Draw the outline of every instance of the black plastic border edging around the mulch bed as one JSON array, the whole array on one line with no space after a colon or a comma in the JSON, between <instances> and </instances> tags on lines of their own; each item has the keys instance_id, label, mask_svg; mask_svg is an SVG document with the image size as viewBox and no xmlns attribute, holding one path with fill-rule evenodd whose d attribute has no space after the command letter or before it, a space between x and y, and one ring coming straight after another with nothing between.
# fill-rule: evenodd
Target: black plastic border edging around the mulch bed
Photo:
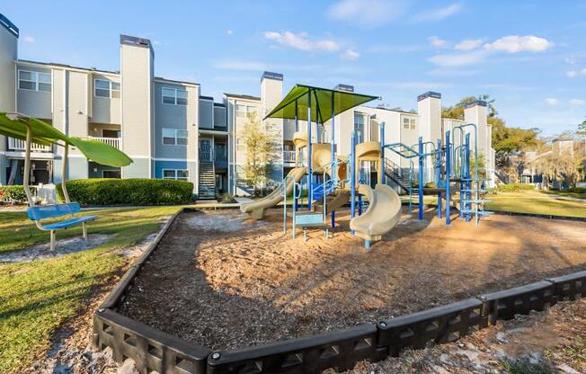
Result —
<instances>
[{"instance_id":1,"label":"black plastic border edging around the mulch bed","mask_svg":"<svg viewBox=\"0 0 586 374\"><path fill-rule=\"evenodd\" d=\"M423 310L376 324L267 343L234 351L213 352L142 324L117 310L125 301L143 264L169 232L183 208L170 218L145 254L122 277L95 312L93 344L111 347L117 362L136 362L140 373L318 373L325 369L350 370L358 361L381 361L407 348L454 342L499 319L544 310L562 300L586 297L586 270L504 289Z\"/></svg>"}]
</instances>

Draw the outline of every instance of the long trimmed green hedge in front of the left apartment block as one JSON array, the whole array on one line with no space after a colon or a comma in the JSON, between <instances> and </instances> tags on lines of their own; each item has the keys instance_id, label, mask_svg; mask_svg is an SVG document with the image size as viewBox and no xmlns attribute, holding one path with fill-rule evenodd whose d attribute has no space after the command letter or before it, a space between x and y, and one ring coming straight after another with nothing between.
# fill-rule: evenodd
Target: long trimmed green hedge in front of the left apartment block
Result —
<instances>
[{"instance_id":1,"label":"long trimmed green hedge in front of the left apartment block","mask_svg":"<svg viewBox=\"0 0 586 374\"><path fill-rule=\"evenodd\" d=\"M69 199L82 205L173 205L191 202L193 183L166 179L79 179L67 181ZM65 200L61 184L58 200Z\"/></svg>"}]
</instances>

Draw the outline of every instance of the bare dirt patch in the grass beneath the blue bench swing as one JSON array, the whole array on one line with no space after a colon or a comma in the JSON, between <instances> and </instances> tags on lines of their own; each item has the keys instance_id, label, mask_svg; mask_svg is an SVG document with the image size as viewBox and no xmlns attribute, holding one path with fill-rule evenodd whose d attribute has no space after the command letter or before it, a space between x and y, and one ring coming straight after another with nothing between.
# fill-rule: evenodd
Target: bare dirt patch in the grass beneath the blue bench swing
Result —
<instances>
[{"instance_id":1,"label":"bare dirt patch in the grass beneath the blue bench swing","mask_svg":"<svg viewBox=\"0 0 586 374\"><path fill-rule=\"evenodd\" d=\"M47 243L31 245L22 250L0 254L0 263L29 263L33 260L46 260L66 254L74 254L75 252L86 251L103 245L112 237L114 236L105 234L91 234L87 236L87 240L84 240L83 236L68 237L67 239L58 240L55 251L51 251L48 234Z\"/></svg>"}]
</instances>

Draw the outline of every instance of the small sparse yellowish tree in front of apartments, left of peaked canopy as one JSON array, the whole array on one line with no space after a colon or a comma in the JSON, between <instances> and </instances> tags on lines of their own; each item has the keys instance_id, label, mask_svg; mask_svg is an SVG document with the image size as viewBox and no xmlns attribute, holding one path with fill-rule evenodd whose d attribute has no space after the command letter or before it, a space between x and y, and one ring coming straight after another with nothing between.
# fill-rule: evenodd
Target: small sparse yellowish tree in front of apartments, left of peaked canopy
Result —
<instances>
[{"instance_id":1,"label":"small sparse yellowish tree in front of apartments, left of peaked canopy","mask_svg":"<svg viewBox=\"0 0 586 374\"><path fill-rule=\"evenodd\" d=\"M239 137L244 139L246 149L244 179L256 191L269 182L273 160L279 152L275 147L276 139L263 128L256 113L248 113Z\"/></svg>"}]
</instances>

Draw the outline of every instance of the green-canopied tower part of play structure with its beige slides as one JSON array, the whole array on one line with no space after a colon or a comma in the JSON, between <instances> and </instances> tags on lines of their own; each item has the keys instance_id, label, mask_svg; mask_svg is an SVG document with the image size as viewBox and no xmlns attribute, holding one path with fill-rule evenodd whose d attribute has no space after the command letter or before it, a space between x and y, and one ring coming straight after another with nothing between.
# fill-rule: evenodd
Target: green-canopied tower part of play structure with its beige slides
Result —
<instances>
[{"instance_id":1,"label":"green-canopied tower part of play structure with its beige slides","mask_svg":"<svg viewBox=\"0 0 586 374\"><path fill-rule=\"evenodd\" d=\"M246 203L241 211L253 218L264 217L265 209L274 207L284 201L283 226L287 228L287 198L293 201L292 220L295 237L296 228L303 229L306 238L307 228L322 228L324 236L328 236L329 227L335 227L335 210L347 202L351 202L351 218L362 213L360 191L368 195L368 210L354 223L352 232L364 238L367 248L373 240L393 228L400 215L401 202L395 191L380 187L370 189L360 181L360 162L375 161L379 175L382 174L380 162L381 147L378 142L356 144L356 134L352 134L350 156L338 155L335 148L335 116L364 102L376 99L375 96L354 94L338 90L330 90L307 85L296 85L289 94L265 117L295 120L293 142L296 147L296 167L283 179L275 191L267 197ZM299 120L306 121L306 132L300 131ZM331 120L330 143L314 142L312 121L316 129ZM301 165L306 160L306 165ZM305 177L305 183L304 181ZM380 179L380 178L379 178ZM307 203L305 211L297 211L301 206L298 200L306 191ZM357 193L358 192L358 193ZM391 218L388 209L393 209ZM331 222L327 223L327 216Z\"/></svg>"}]
</instances>

